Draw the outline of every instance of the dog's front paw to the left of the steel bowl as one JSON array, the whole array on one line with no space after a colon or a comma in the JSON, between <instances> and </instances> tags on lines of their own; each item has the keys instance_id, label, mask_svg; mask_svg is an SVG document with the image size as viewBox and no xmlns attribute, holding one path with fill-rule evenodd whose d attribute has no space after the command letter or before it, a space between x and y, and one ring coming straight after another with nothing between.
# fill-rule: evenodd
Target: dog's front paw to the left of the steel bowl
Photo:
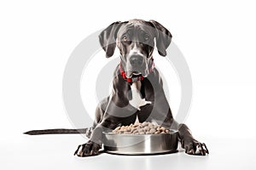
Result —
<instances>
[{"instance_id":1,"label":"dog's front paw to the left of the steel bowl","mask_svg":"<svg viewBox=\"0 0 256 170\"><path fill-rule=\"evenodd\" d=\"M96 144L95 142L88 141L86 144L80 144L78 149L75 151L75 156L96 156L99 154L101 149L101 144Z\"/></svg>"}]
</instances>

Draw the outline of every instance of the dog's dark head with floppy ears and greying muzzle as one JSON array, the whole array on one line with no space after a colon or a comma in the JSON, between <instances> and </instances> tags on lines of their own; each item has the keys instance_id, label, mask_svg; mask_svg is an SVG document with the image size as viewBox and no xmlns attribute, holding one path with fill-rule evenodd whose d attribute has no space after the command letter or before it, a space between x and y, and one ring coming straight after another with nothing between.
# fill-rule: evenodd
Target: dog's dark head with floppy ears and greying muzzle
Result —
<instances>
[{"instance_id":1,"label":"dog's dark head with floppy ears and greying muzzle","mask_svg":"<svg viewBox=\"0 0 256 170\"><path fill-rule=\"evenodd\" d=\"M158 53L166 56L166 48L172 40L172 34L154 20L129 20L114 22L99 35L106 56L111 57L117 46L120 52L121 66L128 78L148 76L148 65L152 62L154 38Z\"/></svg>"}]
</instances>

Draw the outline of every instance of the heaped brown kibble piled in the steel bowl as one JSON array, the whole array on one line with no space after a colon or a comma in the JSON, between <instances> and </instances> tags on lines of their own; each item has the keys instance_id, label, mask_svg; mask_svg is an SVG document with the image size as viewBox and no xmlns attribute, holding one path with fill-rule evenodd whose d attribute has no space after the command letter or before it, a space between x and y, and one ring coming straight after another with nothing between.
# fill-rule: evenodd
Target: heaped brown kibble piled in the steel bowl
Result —
<instances>
[{"instance_id":1,"label":"heaped brown kibble piled in the steel bowl","mask_svg":"<svg viewBox=\"0 0 256 170\"><path fill-rule=\"evenodd\" d=\"M161 127L160 125L155 125L151 122L137 122L130 126L116 127L112 131L114 134L160 134L169 132L169 129Z\"/></svg>"}]
</instances>

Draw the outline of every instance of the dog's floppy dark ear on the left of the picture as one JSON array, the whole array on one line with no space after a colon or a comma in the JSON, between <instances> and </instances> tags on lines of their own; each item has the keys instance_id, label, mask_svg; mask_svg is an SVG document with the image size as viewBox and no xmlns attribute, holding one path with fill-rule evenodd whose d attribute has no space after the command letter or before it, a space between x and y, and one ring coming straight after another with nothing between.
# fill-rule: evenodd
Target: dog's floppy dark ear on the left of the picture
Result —
<instances>
[{"instance_id":1,"label":"dog's floppy dark ear on the left of the picture","mask_svg":"<svg viewBox=\"0 0 256 170\"><path fill-rule=\"evenodd\" d=\"M120 27L120 21L113 22L108 28L103 30L99 35L102 48L106 52L106 57L111 57L116 47L116 34Z\"/></svg>"}]
</instances>

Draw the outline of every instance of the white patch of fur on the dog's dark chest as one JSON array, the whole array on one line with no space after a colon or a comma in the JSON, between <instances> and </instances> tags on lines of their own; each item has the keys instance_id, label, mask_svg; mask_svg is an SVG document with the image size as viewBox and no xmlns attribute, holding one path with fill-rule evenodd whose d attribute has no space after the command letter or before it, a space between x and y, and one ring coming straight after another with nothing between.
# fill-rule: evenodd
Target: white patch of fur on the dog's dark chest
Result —
<instances>
[{"instance_id":1,"label":"white patch of fur on the dog's dark chest","mask_svg":"<svg viewBox=\"0 0 256 170\"><path fill-rule=\"evenodd\" d=\"M142 99L142 95L140 93L142 87L142 82L137 81L133 82L131 84L131 94L132 99L129 101L129 103L137 108L138 111L141 111L140 107L143 105L151 104L151 101L146 101L145 99Z\"/></svg>"}]
</instances>

